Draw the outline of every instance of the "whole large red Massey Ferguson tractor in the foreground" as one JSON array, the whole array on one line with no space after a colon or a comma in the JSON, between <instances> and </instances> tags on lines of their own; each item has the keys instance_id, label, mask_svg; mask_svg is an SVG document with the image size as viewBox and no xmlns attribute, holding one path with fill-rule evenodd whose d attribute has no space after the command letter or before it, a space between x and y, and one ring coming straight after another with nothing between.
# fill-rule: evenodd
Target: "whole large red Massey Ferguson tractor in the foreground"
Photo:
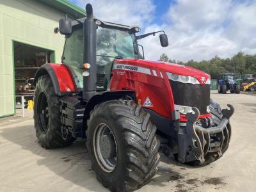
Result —
<instances>
[{"instance_id":1,"label":"whole large red Massey Ferguson tractor in the foreground","mask_svg":"<svg viewBox=\"0 0 256 192\"><path fill-rule=\"evenodd\" d=\"M61 64L35 76L36 137L44 148L86 138L92 169L111 191L132 191L157 172L159 152L204 165L228 148L228 109L210 99L210 76L195 68L144 60L140 28L104 22L86 5L83 19L60 19ZM141 49L143 50L143 49ZM85 143L84 143L85 144Z\"/></svg>"}]
</instances>

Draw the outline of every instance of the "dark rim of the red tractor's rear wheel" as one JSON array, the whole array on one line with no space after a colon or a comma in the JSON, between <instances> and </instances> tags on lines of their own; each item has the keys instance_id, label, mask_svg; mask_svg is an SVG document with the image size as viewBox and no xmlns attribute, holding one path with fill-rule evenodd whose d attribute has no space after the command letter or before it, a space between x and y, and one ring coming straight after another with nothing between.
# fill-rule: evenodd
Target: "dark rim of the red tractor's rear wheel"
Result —
<instances>
[{"instance_id":1,"label":"dark rim of the red tractor's rear wheel","mask_svg":"<svg viewBox=\"0 0 256 192\"><path fill-rule=\"evenodd\" d=\"M49 125L49 107L47 97L44 92L41 92L38 97L38 122L42 132L47 132Z\"/></svg>"}]
</instances>

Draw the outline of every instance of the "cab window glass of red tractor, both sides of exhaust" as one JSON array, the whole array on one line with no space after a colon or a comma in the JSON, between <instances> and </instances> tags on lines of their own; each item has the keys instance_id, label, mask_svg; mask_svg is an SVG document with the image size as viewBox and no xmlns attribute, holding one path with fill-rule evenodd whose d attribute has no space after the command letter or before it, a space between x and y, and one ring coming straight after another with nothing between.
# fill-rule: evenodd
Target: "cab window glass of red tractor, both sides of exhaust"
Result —
<instances>
[{"instance_id":1,"label":"cab window glass of red tractor, both sides of exhaust","mask_svg":"<svg viewBox=\"0 0 256 192\"><path fill-rule=\"evenodd\" d=\"M106 90L113 60L138 58L134 33L113 28L97 29L97 88ZM77 88L83 88L83 29L74 29L66 38L63 63L70 67Z\"/></svg>"}]
</instances>

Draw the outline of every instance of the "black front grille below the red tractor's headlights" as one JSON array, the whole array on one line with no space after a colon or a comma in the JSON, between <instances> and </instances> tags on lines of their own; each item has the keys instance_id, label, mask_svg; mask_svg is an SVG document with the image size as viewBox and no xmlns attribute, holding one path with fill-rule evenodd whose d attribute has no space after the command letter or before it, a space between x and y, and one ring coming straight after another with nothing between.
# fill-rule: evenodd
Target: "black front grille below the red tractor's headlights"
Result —
<instances>
[{"instance_id":1,"label":"black front grille below the red tractor's headlights","mask_svg":"<svg viewBox=\"0 0 256 192\"><path fill-rule=\"evenodd\" d=\"M210 85L191 84L171 81L174 104L180 106L196 107L200 115L207 114L210 105Z\"/></svg>"}]
</instances>

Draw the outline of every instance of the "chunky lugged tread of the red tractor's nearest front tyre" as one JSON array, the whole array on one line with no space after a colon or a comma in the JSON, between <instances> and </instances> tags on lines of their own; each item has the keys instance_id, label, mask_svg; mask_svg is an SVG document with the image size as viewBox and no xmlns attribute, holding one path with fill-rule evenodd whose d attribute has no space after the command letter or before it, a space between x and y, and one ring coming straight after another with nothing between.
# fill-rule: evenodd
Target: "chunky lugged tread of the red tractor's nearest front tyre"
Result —
<instances>
[{"instance_id":1,"label":"chunky lugged tread of the red tractor's nearest front tyre","mask_svg":"<svg viewBox=\"0 0 256 192\"><path fill-rule=\"evenodd\" d=\"M111 191L133 191L147 184L157 172L159 163L159 142L155 136L156 126L150 122L150 115L133 100L109 100L93 109L88 125L93 118L102 113L100 111L109 111L109 116L119 125L118 128L122 129L125 159L127 159L126 172L123 173L124 180L109 182L108 179L101 177L102 174L96 173L100 181ZM88 132L90 132L90 127L88 127ZM88 149L90 158L93 159L92 149ZM92 161L92 164L96 166L97 161ZM116 182L121 184L116 185Z\"/></svg>"}]
</instances>

